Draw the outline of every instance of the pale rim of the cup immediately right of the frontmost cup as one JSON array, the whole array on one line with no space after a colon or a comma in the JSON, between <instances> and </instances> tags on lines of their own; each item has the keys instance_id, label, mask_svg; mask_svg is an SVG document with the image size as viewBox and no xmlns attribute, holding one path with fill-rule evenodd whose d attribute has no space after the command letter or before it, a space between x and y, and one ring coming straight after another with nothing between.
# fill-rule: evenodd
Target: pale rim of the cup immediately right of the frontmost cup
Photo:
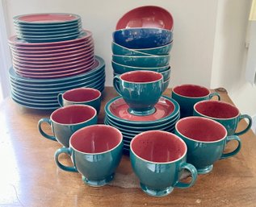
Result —
<instances>
[{"instance_id":1,"label":"pale rim of the cup immediately right of the frontmost cup","mask_svg":"<svg viewBox=\"0 0 256 207\"><path fill-rule=\"evenodd\" d=\"M225 136L221 139L218 139L216 141L199 141L199 140L196 140L196 139L191 139L185 135L183 135L178 129L177 129L177 126L178 126L178 123L179 122L183 122L183 120L185 119L191 119L191 118L196 118L196 119L204 119L204 120L208 120L210 122L215 122L217 125L219 125L221 128L223 128L225 130ZM195 143L219 143L220 141L226 139L226 137L228 136L228 132L225 128L225 126L223 126L222 124L220 124L219 122L216 122L215 120L212 120L211 118L204 118L204 117L196 117L196 116L191 116L191 117L185 117L185 118L181 118L178 120L178 122L175 123L175 130L178 132L179 135L182 135L184 138L186 139L189 139Z\"/></svg>"}]
</instances>

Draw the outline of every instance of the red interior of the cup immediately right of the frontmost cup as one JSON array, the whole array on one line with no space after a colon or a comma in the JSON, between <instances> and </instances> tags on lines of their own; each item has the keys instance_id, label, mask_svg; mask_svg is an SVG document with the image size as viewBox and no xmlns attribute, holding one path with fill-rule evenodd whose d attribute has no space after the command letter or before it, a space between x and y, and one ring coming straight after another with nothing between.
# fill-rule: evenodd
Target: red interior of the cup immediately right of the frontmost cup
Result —
<instances>
[{"instance_id":1,"label":"red interior of the cup immediately right of the frontmost cup","mask_svg":"<svg viewBox=\"0 0 256 207\"><path fill-rule=\"evenodd\" d=\"M183 136L201 142L215 142L226 136L225 127L208 118L182 118L176 124L176 130Z\"/></svg>"}]
</instances>

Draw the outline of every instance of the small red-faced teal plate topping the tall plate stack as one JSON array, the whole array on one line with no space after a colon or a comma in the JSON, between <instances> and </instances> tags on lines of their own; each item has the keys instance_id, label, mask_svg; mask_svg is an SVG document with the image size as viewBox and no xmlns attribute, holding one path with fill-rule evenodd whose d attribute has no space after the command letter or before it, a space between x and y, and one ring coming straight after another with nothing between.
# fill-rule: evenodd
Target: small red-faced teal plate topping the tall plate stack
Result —
<instances>
[{"instance_id":1,"label":"small red-faced teal plate topping the tall plate stack","mask_svg":"<svg viewBox=\"0 0 256 207\"><path fill-rule=\"evenodd\" d=\"M23 14L14 17L18 23L71 23L78 21L80 17L77 14Z\"/></svg>"}]
</instances>

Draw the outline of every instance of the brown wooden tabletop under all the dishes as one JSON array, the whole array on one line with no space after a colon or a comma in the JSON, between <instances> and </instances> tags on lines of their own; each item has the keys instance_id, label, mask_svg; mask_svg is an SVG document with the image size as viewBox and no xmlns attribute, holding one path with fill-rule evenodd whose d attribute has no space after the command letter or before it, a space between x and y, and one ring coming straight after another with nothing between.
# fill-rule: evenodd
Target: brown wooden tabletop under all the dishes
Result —
<instances>
[{"instance_id":1,"label":"brown wooden tabletop under all the dishes","mask_svg":"<svg viewBox=\"0 0 256 207\"><path fill-rule=\"evenodd\" d=\"M223 101L231 102L218 89ZM117 94L103 93L99 122L106 102ZM170 89L166 90L170 96ZM213 171L198 176L192 188L175 188L166 197L149 197L139 187L127 155L123 156L115 179L94 188L82 183L80 174L65 172L54 163L61 147L40 135L37 122L51 111L29 110L6 98L0 105L0 206L256 206L256 136L250 130L241 136L242 149L230 159L214 164ZM238 128L244 127L242 121ZM44 129L50 132L48 126ZM228 149L234 147L229 143ZM67 156L61 162L70 164Z\"/></svg>"}]
</instances>

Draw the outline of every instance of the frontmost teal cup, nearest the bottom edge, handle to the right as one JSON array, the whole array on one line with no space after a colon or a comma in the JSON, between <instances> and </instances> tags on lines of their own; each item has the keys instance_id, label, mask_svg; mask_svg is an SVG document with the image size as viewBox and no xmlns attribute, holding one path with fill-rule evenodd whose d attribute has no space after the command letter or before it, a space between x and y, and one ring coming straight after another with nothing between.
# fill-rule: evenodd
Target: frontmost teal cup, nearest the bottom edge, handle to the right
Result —
<instances>
[{"instance_id":1,"label":"frontmost teal cup, nearest the bottom edge, handle to the right","mask_svg":"<svg viewBox=\"0 0 256 207\"><path fill-rule=\"evenodd\" d=\"M130 143L132 169L141 182L141 189L154 197L164 197L174 188L195 184L197 172L187 164L187 146L177 135L150 130L136 135ZM183 170L191 173L191 182L179 181Z\"/></svg>"}]
</instances>

